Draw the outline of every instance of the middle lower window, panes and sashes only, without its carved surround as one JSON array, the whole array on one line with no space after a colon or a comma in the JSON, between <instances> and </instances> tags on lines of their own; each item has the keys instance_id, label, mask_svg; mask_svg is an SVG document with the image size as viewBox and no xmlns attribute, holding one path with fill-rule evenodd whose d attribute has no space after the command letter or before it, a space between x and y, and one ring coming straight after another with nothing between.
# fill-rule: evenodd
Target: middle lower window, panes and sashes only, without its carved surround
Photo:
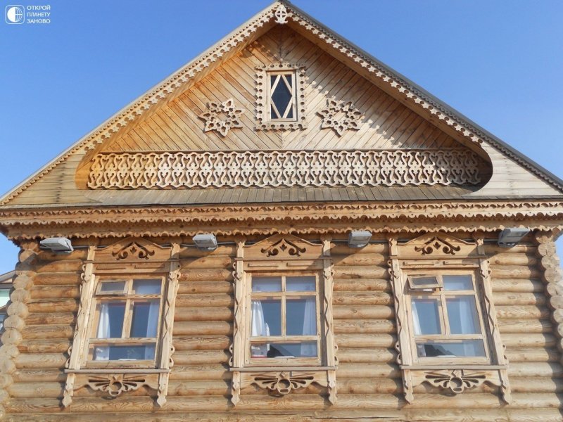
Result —
<instances>
[{"instance_id":1,"label":"middle lower window, panes and sashes only, without its carved surround","mask_svg":"<svg viewBox=\"0 0 563 422\"><path fill-rule=\"evenodd\" d=\"M249 364L319 364L318 277L251 276ZM272 364L272 362L268 362Z\"/></svg>"}]
</instances>

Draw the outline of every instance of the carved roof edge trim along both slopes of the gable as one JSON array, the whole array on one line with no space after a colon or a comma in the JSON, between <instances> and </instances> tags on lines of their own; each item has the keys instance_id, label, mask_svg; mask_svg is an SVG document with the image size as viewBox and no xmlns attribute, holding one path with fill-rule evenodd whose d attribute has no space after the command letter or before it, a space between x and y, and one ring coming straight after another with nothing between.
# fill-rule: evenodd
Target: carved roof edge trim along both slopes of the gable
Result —
<instances>
[{"instance_id":1,"label":"carved roof edge trim along both slopes of the gable","mask_svg":"<svg viewBox=\"0 0 563 422\"><path fill-rule=\"evenodd\" d=\"M211 46L208 50L204 51L201 55L194 58L194 60L191 60L189 63L182 66L182 68L172 73L172 75L165 78L162 82L156 84L155 87L149 89L145 94L137 98L137 100L129 103L129 105L125 106L125 108L119 110L115 113L115 115L96 127L96 129L92 130L89 134L83 136L76 143L63 151L61 155L58 155L58 157L51 160L51 162L39 169L37 172L34 172L34 174L15 186L15 188L11 191L8 191L8 193L0 197L0 205L4 205L9 200L15 198L15 196L18 196L19 193L25 191L25 189L31 186L35 181L37 181L37 179L52 170L53 167L56 167L56 165L58 165L62 160L68 158L72 155L72 153L79 151L80 148L88 147L90 143L93 143L93 146L95 146L97 143L103 142L105 139L108 139L113 132L117 132L129 121L134 120L138 115L143 114L144 111L152 108L157 103L160 103L160 101L167 98L172 91L175 91L178 87L182 86L184 82L188 82L193 79L196 73L200 70L203 70L203 68L207 68L212 63L215 63L217 56L215 58L213 56L217 51L221 51L222 49L223 52L226 53L231 49L240 46L240 44L243 43L243 40L248 39L248 37L255 32L257 27L262 27L270 20L277 19L275 11L279 4L286 6L288 21L293 20L296 24L305 27L315 35L317 35L318 32L322 32L324 34L323 39L327 44L341 44L341 49L339 49L341 53L350 51L350 53L354 56L353 60L355 62L363 63L363 67L368 68L370 72L373 72L377 77L398 91L399 94L404 94L409 101L416 103L422 108L428 109L431 114L436 115L440 120L443 120L455 131L460 132L460 134L468 139L471 139L476 143L480 143L482 140L491 143L492 146L518 162L520 165L523 165L527 170L530 170L533 174L540 177L540 179L547 181L550 185L563 192L563 180L559 179L559 177L555 176L555 174L545 170L545 168L538 165L538 163L527 158L507 143L500 140L498 137L486 131L486 129L483 129L478 124L462 115L462 113L443 103L428 91L419 87L415 84L415 82L412 82L407 77L401 75L400 72L393 70L381 61L377 60L377 58L374 58L366 51L360 49L360 47L356 46L344 37L341 37L339 34L336 34L336 32L330 30L328 27L315 20L315 18L312 18L308 15L308 13L305 13L300 8L289 3L289 1L275 0L272 4L270 4L270 6L267 6L247 20L246 23L243 23L243 25L236 28L236 30L228 34L226 37L217 41L217 43ZM307 25L309 27L307 27ZM237 37L239 37L239 39L237 39ZM198 65L201 65L202 68L196 70L195 68L197 68ZM370 66L374 69L369 69ZM377 70L377 72L374 72L374 70ZM96 139L96 137L98 139Z\"/></svg>"}]
</instances>

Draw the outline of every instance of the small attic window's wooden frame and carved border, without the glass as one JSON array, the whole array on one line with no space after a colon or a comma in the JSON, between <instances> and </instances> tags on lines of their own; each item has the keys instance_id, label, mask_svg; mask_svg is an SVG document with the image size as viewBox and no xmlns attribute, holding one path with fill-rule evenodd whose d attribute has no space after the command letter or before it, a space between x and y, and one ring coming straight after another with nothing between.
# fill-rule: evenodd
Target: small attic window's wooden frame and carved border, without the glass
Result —
<instances>
[{"instance_id":1,"label":"small attic window's wooden frame and carved border, without the glass","mask_svg":"<svg viewBox=\"0 0 563 422\"><path fill-rule=\"evenodd\" d=\"M293 63L272 63L255 68L256 73L256 130L305 129L305 66ZM293 118L272 118L270 77L291 75L293 78ZM279 78L279 83L282 83ZM280 111L281 114L284 114Z\"/></svg>"}]
</instances>

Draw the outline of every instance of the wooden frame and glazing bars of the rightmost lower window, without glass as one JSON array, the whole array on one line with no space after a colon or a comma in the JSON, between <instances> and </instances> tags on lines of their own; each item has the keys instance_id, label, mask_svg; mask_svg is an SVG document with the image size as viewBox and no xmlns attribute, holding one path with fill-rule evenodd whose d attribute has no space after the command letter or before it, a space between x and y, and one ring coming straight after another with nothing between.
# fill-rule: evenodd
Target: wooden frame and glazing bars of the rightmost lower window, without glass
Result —
<instances>
[{"instance_id":1,"label":"wooden frame and glazing bars of the rightmost lower window, without glass","mask_svg":"<svg viewBox=\"0 0 563 422\"><path fill-rule=\"evenodd\" d=\"M436 288L415 288L410 283L412 276L436 276L438 287ZM470 275L472 280L472 290L445 290L443 276ZM405 269L405 276L409 282L405 283L405 298L407 302L408 328L410 331L410 350L412 354L412 362L414 364L491 364L491 345L490 338L486 329L484 312L482 308L483 298L480 294L479 278L475 269L467 269L463 267L448 267L447 269ZM446 298L448 296L467 296L475 300L477 319L479 322L480 334L452 334L450 333L450 321L448 316L448 306ZM416 334L415 333L415 315L412 311L412 300L414 298L438 298L440 304L438 308L438 316L441 327L441 334ZM417 352L417 342L434 341L436 343L450 343L455 340L482 340L484 357L419 357Z\"/></svg>"}]
</instances>

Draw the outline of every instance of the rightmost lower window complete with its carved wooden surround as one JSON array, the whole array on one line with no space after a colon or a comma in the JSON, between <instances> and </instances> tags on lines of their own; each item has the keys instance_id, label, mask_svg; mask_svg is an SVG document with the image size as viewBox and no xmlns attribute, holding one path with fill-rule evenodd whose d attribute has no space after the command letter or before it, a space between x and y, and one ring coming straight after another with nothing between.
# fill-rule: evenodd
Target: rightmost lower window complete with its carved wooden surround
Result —
<instances>
[{"instance_id":1,"label":"rightmost lower window complete with its carved wooden surround","mask_svg":"<svg viewBox=\"0 0 563 422\"><path fill-rule=\"evenodd\" d=\"M508 362L493 305L483 238L426 234L389 238L388 262L398 331L397 363L407 402L427 383L460 394L483 383L510 403Z\"/></svg>"}]
</instances>

